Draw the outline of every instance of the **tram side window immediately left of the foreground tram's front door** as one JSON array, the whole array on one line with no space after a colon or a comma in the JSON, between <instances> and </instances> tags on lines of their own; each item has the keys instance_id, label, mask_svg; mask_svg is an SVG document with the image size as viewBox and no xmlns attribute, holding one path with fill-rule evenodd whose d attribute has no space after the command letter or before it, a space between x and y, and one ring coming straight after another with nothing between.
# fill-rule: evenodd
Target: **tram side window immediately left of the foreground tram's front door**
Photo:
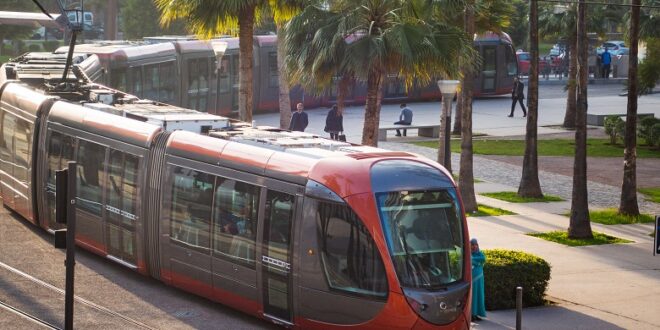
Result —
<instances>
[{"instance_id":1,"label":"tram side window immediately left of the foreground tram's front door","mask_svg":"<svg viewBox=\"0 0 660 330\"><path fill-rule=\"evenodd\" d=\"M214 205L214 253L254 267L259 187L218 178Z\"/></svg>"}]
</instances>

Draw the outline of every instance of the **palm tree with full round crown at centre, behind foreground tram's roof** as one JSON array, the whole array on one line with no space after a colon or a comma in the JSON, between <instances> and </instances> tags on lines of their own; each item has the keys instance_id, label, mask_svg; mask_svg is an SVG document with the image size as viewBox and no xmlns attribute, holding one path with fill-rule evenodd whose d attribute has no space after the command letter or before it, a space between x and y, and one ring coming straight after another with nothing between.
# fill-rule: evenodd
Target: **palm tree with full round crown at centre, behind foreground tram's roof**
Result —
<instances>
[{"instance_id":1,"label":"palm tree with full round crown at centre, behind foreground tram's roof","mask_svg":"<svg viewBox=\"0 0 660 330\"><path fill-rule=\"evenodd\" d=\"M287 43L290 40L293 48L308 48L298 54L331 58L343 48L343 58L337 58L339 64L335 65L366 82L362 144L378 144L385 74L398 73L407 86L425 84L437 76L456 77L458 59L474 57L472 42L460 29L428 19L435 5L428 0L345 0L306 9L289 23ZM317 26L318 21L324 22L324 29L310 33L310 26ZM295 57L296 53L288 55ZM313 67L306 66L309 63L328 63L313 58L291 61L312 71Z\"/></svg>"}]
</instances>

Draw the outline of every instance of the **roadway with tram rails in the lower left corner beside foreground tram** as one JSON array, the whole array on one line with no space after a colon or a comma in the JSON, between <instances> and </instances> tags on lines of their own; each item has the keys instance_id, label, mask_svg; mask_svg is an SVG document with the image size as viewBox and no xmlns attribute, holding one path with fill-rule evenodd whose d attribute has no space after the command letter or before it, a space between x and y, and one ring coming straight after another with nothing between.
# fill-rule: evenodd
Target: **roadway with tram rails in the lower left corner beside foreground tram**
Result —
<instances>
[{"instance_id":1,"label":"roadway with tram rails in the lower left corner beside foreground tram","mask_svg":"<svg viewBox=\"0 0 660 330\"><path fill-rule=\"evenodd\" d=\"M0 303L63 327L64 251L0 208ZM104 258L76 254L77 329L268 329L254 317L168 287ZM0 306L0 329L42 329Z\"/></svg>"}]
</instances>

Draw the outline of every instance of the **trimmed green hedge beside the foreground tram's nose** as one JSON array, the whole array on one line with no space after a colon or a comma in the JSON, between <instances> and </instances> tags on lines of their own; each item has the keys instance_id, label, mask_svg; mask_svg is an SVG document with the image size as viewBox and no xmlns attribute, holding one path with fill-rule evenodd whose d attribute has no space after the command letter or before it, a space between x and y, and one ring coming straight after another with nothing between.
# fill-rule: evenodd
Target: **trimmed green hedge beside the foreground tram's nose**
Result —
<instances>
[{"instance_id":1,"label":"trimmed green hedge beside the foreground tram's nose","mask_svg":"<svg viewBox=\"0 0 660 330\"><path fill-rule=\"evenodd\" d=\"M533 254L512 250L484 250L486 309L516 307L516 287L523 287L523 307L545 303L550 264Z\"/></svg>"}]
</instances>

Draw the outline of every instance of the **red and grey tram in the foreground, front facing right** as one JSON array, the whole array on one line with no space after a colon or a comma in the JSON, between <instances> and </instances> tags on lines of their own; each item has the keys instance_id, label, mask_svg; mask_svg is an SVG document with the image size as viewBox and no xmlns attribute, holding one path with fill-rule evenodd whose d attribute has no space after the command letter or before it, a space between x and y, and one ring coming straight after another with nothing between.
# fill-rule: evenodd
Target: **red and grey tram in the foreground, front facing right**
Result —
<instances>
[{"instance_id":1,"label":"red and grey tram in the foreground, front facing right","mask_svg":"<svg viewBox=\"0 0 660 330\"><path fill-rule=\"evenodd\" d=\"M0 68L6 207L57 228L75 160L77 243L129 269L287 327L469 328L468 229L437 163L40 74L63 63Z\"/></svg>"}]
</instances>

